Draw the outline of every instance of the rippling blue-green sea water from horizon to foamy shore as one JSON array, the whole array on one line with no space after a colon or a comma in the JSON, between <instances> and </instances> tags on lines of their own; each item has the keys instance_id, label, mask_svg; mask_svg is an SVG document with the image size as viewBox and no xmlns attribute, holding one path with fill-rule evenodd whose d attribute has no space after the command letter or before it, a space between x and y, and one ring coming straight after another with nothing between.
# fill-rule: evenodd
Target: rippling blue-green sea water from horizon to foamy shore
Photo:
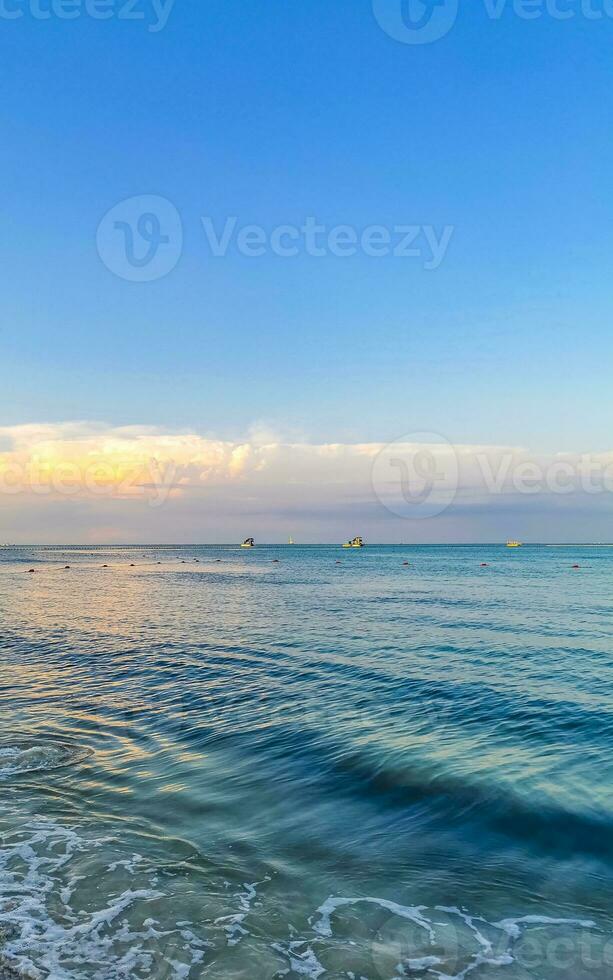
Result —
<instances>
[{"instance_id":1,"label":"rippling blue-green sea water from horizon to foamy shore","mask_svg":"<svg viewBox=\"0 0 613 980\"><path fill-rule=\"evenodd\" d=\"M611 980L612 611L600 547L0 550L0 976Z\"/></svg>"}]
</instances>

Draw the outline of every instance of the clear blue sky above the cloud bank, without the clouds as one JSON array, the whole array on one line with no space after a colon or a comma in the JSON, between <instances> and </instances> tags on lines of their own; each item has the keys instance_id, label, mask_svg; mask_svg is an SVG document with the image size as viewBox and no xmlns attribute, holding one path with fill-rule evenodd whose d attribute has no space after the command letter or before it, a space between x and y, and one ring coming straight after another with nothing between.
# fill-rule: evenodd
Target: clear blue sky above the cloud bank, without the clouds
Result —
<instances>
[{"instance_id":1,"label":"clear blue sky above the cloud bank, without the clouds","mask_svg":"<svg viewBox=\"0 0 613 980\"><path fill-rule=\"evenodd\" d=\"M159 33L0 20L2 422L609 448L612 67L612 20L480 0L424 46L370 0L177 0ZM145 284L96 251L140 194L185 232ZM213 259L203 215L455 233L435 272Z\"/></svg>"}]
</instances>

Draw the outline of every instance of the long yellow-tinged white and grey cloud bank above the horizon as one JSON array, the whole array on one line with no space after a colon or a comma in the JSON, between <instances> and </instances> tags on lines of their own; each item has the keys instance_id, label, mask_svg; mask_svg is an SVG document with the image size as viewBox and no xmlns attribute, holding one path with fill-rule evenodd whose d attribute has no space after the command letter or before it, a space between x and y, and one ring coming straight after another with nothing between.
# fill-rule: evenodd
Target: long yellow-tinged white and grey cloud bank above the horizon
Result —
<instances>
[{"instance_id":1,"label":"long yellow-tinged white and grey cloud bank above the horizon","mask_svg":"<svg viewBox=\"0 0 613 980\"><path fill-rule=\"evenodd\" d=\"M613 450L537 456L409 433L245 439L95 422L0 427L0 541L611 540Z\"/></svg>"}]
</instances>

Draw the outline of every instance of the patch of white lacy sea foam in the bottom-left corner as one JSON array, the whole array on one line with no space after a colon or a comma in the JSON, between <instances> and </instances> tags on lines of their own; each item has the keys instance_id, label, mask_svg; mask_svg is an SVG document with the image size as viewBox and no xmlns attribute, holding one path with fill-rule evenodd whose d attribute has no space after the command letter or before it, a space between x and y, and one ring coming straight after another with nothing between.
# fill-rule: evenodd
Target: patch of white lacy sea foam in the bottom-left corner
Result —
<instances>
[{"instance_id":1,"label":"patch of white lacy sea foam in the bottom-left corner","mask_svg":"<svg viewBox=\"0 0 613 980\"><path fill-rule=\"evenodd\" d=\"M71 904L79 882L88 878L71 874L72 862L90 863L113 840L85 838L78 828L43 818L5 835L0 848L1 963L32 980L131 980L135 974L188 980L209 944L191 930L175 924L164 929L147 917L152 903L156 908L160 902L171 904L159 889L122 888L115 878L105 883L105 899L97 907L91 908L97 889L89 890L87 908L83 902L78 908ZM105 862L97 880L110 874L109 868L135 874L142 862L138 854Z\"/></svg>"}]
</instances>

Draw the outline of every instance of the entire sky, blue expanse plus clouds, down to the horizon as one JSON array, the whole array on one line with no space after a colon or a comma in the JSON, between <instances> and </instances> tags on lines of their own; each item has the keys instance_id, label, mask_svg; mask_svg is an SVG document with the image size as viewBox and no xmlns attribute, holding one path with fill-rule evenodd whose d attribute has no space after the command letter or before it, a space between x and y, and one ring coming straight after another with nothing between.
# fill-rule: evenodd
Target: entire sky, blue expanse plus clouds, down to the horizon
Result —
<instances>
[{"instance_id":1,"label":"entire sky, blue expanse plus clouds, down to the horizon","mask_svg":"<svg viewBox=\"0 0 613 980\"><path fill-rule=\"evenodd\" d=\"M2 0L0 541L613 539L609 6ZM88 489L151 440L164 504Z\"/></svg>"}]
</instances>

